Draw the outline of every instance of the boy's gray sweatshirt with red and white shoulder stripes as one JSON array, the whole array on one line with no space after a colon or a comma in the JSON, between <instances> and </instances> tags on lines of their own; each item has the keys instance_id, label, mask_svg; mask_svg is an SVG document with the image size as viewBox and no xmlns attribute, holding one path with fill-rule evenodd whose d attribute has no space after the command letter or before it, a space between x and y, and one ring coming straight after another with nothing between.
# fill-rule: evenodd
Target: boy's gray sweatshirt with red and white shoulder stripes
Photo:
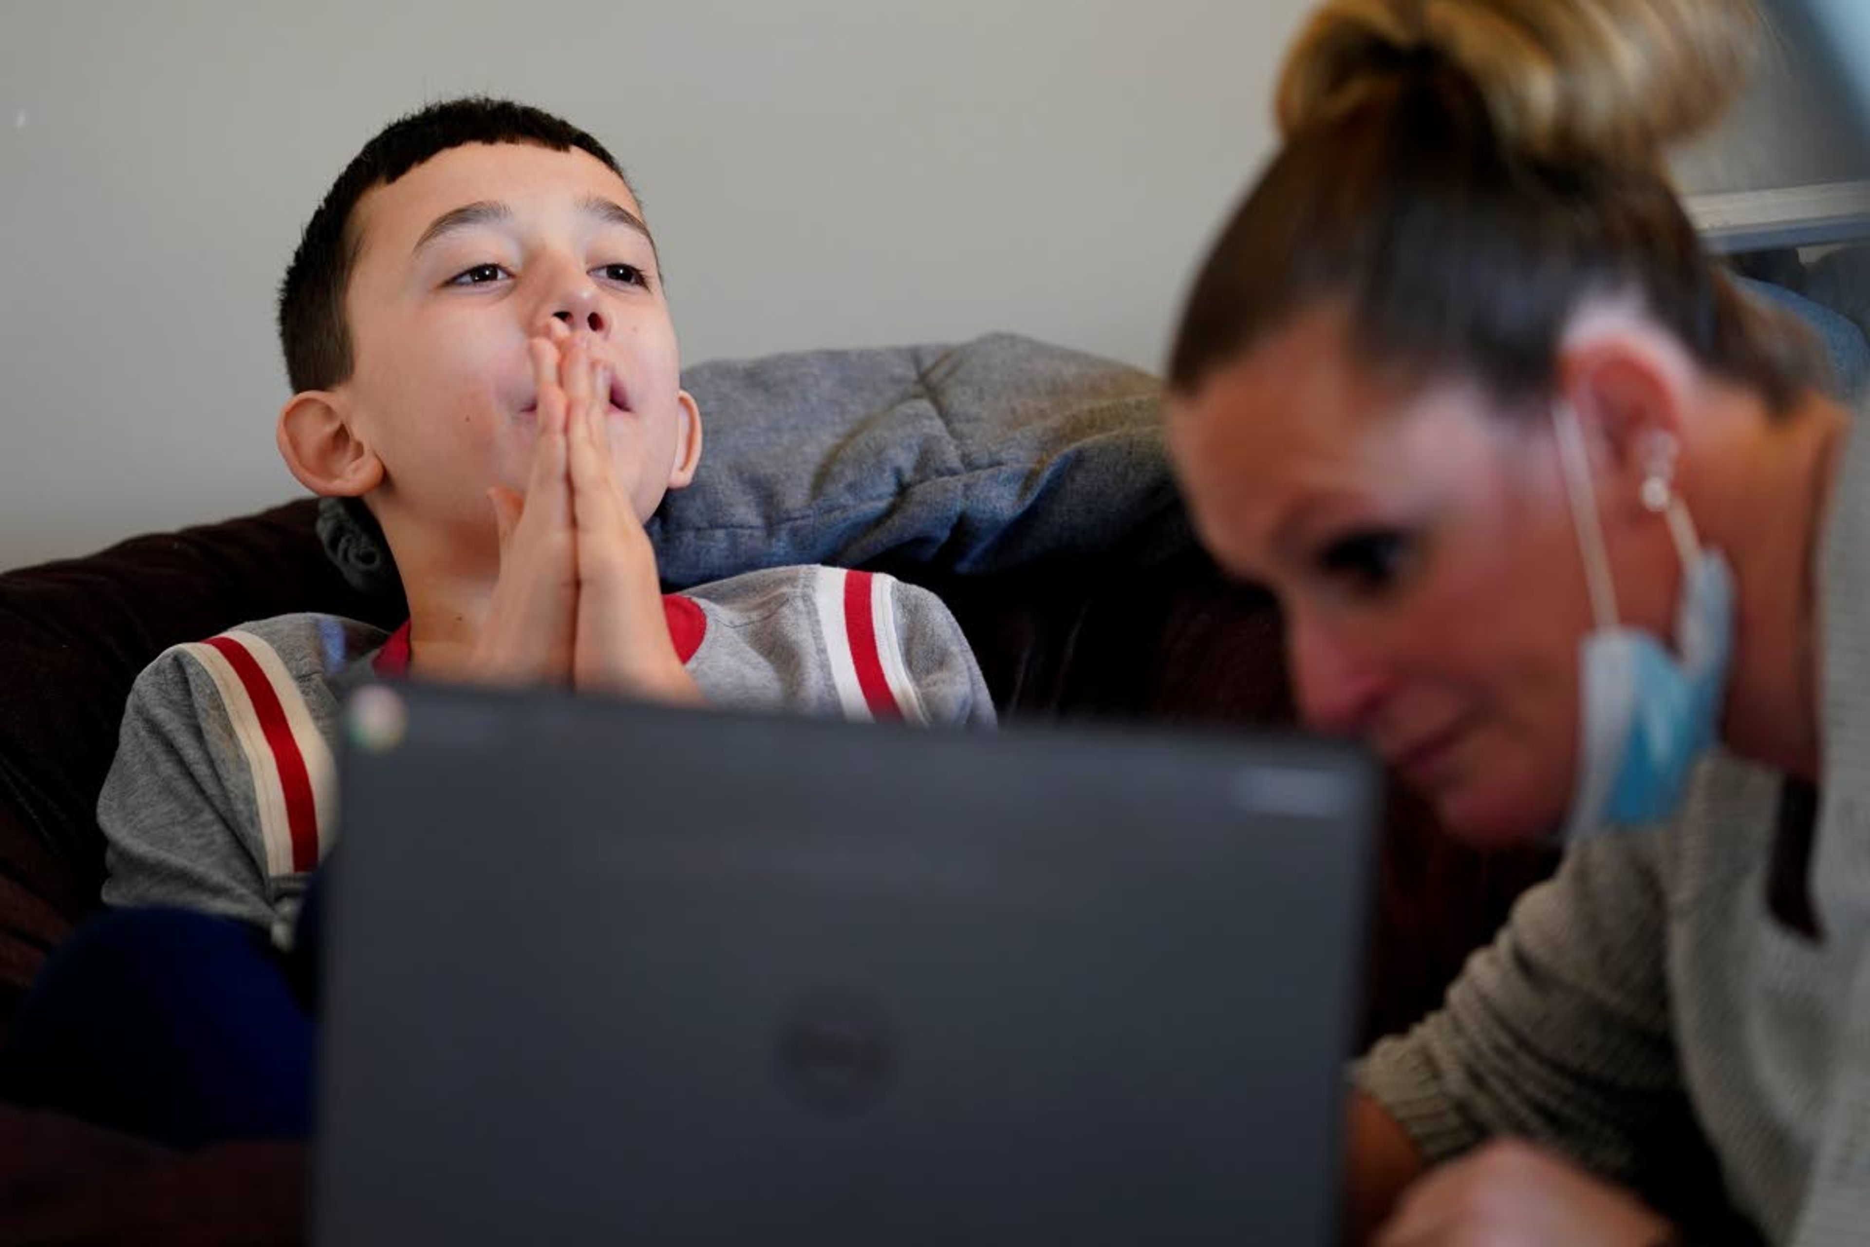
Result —
<instances>
[{"instance_id":1,"label":"boy's gray sweatshirt with red and white shoulder stripes","mask_svg":"<svg viewBox=\"0 0 1870 1247\"><path fill-rule=\"evenodd\" d=\"M664 611L714 705L993 722L954 617L888 576L774 568L669 596ZM340 699L406 666L406 628L335 615L280 615L157 656L97 802L103 899L288 929L337 832Z\"/></svg>"}]
</instances>

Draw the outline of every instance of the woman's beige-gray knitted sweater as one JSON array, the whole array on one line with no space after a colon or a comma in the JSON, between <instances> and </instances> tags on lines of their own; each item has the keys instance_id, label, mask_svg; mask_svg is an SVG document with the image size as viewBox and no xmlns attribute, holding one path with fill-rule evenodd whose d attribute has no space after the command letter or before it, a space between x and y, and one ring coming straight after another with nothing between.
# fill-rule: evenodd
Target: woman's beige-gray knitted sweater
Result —
<instances>
[{"instance_id":1,"label":"woman's beige-gray knitted sweater","mask_svg":"<svg viewBox=\"0 0 1870 1247\"><path fill-rule=\"evenodd\" d=\"M1429 1163L1533 1139L1668 1211L1870 1241L1870 437L1818 555L1823 791L1810 916L1775 916L1784 778L1719 755L1653 834L1586 841L1442 1010L1354 1069ZM1722 1191L1724 1187L1724 1191ZM1726 1241L1726 1240L1722 1240Z\"/></svg>"}]
</instances>

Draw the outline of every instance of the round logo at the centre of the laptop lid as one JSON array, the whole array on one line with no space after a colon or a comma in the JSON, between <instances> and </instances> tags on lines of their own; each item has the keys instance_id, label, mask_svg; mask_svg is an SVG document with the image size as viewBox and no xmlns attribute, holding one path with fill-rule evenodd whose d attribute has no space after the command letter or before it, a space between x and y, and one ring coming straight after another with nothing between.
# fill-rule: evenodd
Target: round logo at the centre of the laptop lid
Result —
<instances>
[{"instance_id":1,"label":"round logo at the centre of the laptop lid","mask_svg":"<svg viewBox=\"0 0 1870 1247\"><path fill-rule=\"evenodd\" d=\"M817 987L787 1002L774 1077L802 1109L832 1118L868 1112L888 1094L896 1064L896 1036L870 995Z\"/></svg>"}]
</instances>

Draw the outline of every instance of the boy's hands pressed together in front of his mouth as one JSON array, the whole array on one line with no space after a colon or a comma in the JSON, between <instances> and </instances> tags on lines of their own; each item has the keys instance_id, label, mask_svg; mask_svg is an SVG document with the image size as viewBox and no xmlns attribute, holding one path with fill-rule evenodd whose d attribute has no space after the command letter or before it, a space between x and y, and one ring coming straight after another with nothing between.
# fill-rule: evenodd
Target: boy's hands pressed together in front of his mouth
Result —
<instances>
[{"instance_id":1,"label":"boy's hands pressed together in front of his mouth","mask_svg":"<svg viewBox=\"0 0 1870 1247\"><path fill-rule=\"evenodd\" d=\"M537 439L527 492L490 490L499 581L477 645L496 682L701 701L669 638L656 555L610 454L610 368L552 322L533 338Z\"/></svg>"}]
</instances>

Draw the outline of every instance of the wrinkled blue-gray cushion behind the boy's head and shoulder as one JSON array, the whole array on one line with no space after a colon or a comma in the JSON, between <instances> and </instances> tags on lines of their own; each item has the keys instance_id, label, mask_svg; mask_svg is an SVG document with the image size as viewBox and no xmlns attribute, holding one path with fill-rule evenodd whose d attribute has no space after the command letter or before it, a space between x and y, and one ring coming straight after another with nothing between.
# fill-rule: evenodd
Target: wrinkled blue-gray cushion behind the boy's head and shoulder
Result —
<instances>
[{"instance_id":1,"label":"wrinkled blue-gray cushion behind the boy's head and shoulder","mask_svg":"<svg viewBox=\"0 0 1870 1247\"><path fill-rule=\"evenodd\" d=\"M683 383L701 469L649 522L675 589L789 563L997 572L1187 542L1159 383L1126 365L1000 333L705 363ZM327 503L320 537L353 583L387 587L359 510Z\"/></svg>"}]
</instances>

